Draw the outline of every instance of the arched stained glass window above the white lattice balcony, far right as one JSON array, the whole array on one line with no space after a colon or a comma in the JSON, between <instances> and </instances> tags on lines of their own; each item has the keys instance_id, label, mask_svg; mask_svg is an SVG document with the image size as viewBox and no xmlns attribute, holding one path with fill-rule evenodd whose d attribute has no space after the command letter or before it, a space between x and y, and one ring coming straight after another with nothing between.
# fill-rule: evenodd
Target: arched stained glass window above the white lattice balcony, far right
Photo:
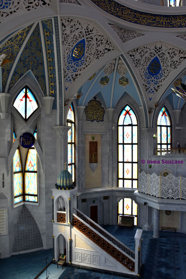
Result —
<instances>
[{"instance_id":1,"label":"arched stained glass window above the white lattice balcony, far right","mask_svg":"<svg viewBox=\"0 0 186 279\"><path fill-rule=\"evenodd\" d=\"M171 120L166 107L163 107L157 120L157 148L158 155L171 148Z\"/></svg>"}]
</instances>

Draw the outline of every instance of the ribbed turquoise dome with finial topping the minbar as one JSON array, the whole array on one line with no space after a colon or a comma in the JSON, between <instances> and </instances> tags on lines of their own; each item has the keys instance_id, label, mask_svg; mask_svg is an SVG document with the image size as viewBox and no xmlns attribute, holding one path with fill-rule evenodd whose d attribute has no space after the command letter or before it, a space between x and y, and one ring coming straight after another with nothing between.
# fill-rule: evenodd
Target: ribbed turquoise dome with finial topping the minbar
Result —
<instances>
[{"instance_id":1,"label":"ribbed turquoise dome with finial topping the minbar","mask_svg":"<svg viewBox=\"0 0 186 279\"><path fill-rule=\"evenodd\" d=\"M57 190L71 190L74 188L72 182L72 175L66 169L66 162L64 164L65 164L64 170L62 170L61 173L59 174L57 183L55 184Z\"/></svg>"}]
</instances>

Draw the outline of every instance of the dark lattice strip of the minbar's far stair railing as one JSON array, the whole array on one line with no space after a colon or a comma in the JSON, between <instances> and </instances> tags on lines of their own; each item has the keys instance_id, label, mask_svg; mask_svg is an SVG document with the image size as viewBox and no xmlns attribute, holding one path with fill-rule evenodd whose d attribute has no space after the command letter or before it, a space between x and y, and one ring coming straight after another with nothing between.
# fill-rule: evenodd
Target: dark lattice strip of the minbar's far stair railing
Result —
<instances>
[{"instance_id":1,"label":"dark lattice strip of the minbar's far stair railing","mask_svg":"<svg viewBox=\"0 0 186 279\"><path fill-rule=\"evenodd\" d=\"M92 228L94 228L96 231L98 231L100 234L105 236L108 240L110 240L113 244L118 246L121 250L123 250L126 254L131 256L132 258L135 258L135 254L130 251L128 248L126 248L124 245L122 245L120 242L118 242L116 239L114 239L112 236L107 234L105 231L103 231L101 228L99 228L97 225L89 221L85 216L77 212L77 216L80 217L83 221L85 221L88 225L90 225Z\"/></svg>"}]
</instances>

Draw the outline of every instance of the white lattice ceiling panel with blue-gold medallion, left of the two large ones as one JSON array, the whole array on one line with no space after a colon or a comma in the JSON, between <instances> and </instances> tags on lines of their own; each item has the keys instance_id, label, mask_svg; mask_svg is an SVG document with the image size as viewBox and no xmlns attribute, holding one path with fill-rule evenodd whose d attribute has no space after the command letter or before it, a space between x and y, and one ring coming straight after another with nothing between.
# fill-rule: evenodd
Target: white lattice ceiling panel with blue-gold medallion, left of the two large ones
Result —
<instances>
[{"instance_id":1,"label":"white lattice ceiling panel with blue-gold medallion, left of the two large ones","mask_svg":"<svg viewBox=\"0 0 186 279\"><path fill-rule=\"evenodd\" d=\"M67 90L92 61L113 51L114 46L96 27L82 20L61 18L61 31Z\"/></svg>"}]
</instances>

